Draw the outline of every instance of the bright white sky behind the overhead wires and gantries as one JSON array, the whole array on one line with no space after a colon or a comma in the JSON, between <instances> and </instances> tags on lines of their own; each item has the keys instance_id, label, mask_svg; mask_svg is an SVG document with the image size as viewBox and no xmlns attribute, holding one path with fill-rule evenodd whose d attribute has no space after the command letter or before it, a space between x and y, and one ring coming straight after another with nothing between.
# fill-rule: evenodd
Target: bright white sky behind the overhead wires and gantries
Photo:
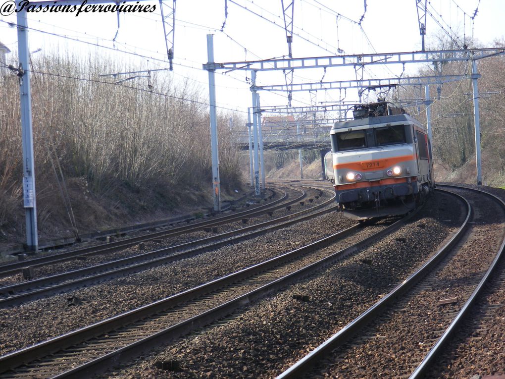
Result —
<instances>
[{"instance_id":1,"label":"bright white sky behind the overhead wires and gantries","mask_svg":"<svg viewBox=\"0 0 505 379\"><path fill-rule=\"evenodd\" d=\"M0 0L2 3L4 0ZM269 59L287 56L287 43L279 0L228 0L228 18L224 32L220 31L224 21L224 0L178 0L175 28L174 71L167 75L175 80L189 78L201 87L202 98L208 99L208 73L202 70L207 62L207 34L214 34L216 62L236 62L244 60ZM170 2L171 3L171 2ZM288 3L288 0L285 1ZM357 25L364 13L363 0L295 0L293 57L316 57L336 55L337 49L344 54L391 53L421 50L416 0L367 0L362 28ZM120 27L113 42L117 27L116 14L28 14L30 51L67 50L99 56L113 56L121 60L133 60L139 69L167 68L166 48L159 13L159 3L153 1L141 4L156 4L157 11L150 14L121 14ZM237 5L238 4L238 5ZM255 15L248 10L262 17ZM474 20L471 16L478 6ZM433 14L426 19L427 48L435 35L444 33L440 25L450 32L470 38L473 35L486 47L491 47L494 39L503 39L505 28L505 0L428 0L428 10ZM342 17L338 17L336 13ZM466 15L465 15L466 13ZM270 20L267 21L266 19ZM354 21L351 22L348 19ZM17 50L17 31L6 22L16 22L16 16L0 16L0 41L11 50ZM437 23L438 22L438 23ZM273 23L277 24L274 25ZM440 25L439 25L440 24ZM80 41L96 43L109 48L96 48L89 44L74 42L62 36ZM368 37L368 39L367 39ZM308 39L310 42L308 42ZM369 43L370 41L370 43ZM317 46L319 45L319 46ZM246 50L244 50L246 49ZM125 52L135 53L135 57ZM374 67L365 72L365 78L389 78L399 75L402 67ZM412 72L414 66L406 67ZM297 70L294 83L319 81L323 69ZM246 111L251 106L249 84L244 71L217 74L218 106ZM126 76L124 76L126 78ZM351 68L328 69L324 80L355 79ZM116 79L118 80L118 79ZM139 78L126 82L128 85L146 87L146 79ZM258 74L258 85L284 84L282 72ZM286 105L285 93L260 92L262 106ZM318 102L341 99L339 91L318 91ZM345 100L356 101L354 92L345 93ZM293 93L293 106L310 105L310 95L305 92Z\"/></svg>"}]
</instances>

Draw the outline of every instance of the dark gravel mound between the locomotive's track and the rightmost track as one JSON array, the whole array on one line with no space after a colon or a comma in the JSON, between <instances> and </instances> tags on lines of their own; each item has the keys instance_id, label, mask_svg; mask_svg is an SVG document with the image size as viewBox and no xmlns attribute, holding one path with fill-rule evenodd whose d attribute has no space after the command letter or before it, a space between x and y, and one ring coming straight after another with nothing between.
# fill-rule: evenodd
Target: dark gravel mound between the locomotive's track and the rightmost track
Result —
<instances>
[{"instance_id":1,"label":"dark gravel mound between the locomotive's track and the rightmost track","mask_svg":"<svg viewBox=\"0 0 505 379\"><path fill-rule=\"evenodd\" d=\"M109 377L271 378L361 314L419 267L461 222L448 195L369 248ZM301 297L300 297L301 295ZM308 297L308 301L296 299ZM306 298L307 299L307 298ZM157 368L178 361L182 371Z\"/></svg>"}]
</instances>

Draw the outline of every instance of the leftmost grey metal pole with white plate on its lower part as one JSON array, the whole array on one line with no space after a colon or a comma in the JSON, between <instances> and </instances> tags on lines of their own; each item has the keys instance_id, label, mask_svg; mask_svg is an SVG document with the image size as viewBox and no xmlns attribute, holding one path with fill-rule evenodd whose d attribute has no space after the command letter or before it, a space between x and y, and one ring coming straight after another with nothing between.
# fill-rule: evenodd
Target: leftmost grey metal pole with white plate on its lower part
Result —
<instances>
[{"instance_id":1,"label":"leftmost grey metal pole with white plate on its lower part","mask_svg":"<svg viewBox=\"0 0 505 379\"><path fill-rule=\"evenodd\" d=\"M23 197L26 217L26 247L38 250L37 206L35 197L35 165L33 160L33 131L31 114L31 89L28 52L28 21L26 10L17 15L18 50L21 94L21 127L23 135Z\"/></svg>"}]
</instances>

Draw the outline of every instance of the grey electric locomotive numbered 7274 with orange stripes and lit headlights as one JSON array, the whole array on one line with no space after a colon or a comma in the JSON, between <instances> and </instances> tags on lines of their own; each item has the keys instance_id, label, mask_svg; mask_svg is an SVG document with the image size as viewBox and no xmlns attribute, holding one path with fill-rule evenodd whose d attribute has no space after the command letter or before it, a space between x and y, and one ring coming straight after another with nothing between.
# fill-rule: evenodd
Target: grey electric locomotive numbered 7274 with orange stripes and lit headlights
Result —
<instances>
[{"instance_id":1,"label":"grey electric locomotive numbered 7274 with orange stripes and lit headlights","mask_svg":"<svg viewBox=\"0 0 505 379\"><path fill-rule=\"evenodd\" d=\"M353 116L334 124L325 157L339 208L355 220L410 212L435 186L425 128L387 102L356 105Z\"/></svg>"}]
</instances>

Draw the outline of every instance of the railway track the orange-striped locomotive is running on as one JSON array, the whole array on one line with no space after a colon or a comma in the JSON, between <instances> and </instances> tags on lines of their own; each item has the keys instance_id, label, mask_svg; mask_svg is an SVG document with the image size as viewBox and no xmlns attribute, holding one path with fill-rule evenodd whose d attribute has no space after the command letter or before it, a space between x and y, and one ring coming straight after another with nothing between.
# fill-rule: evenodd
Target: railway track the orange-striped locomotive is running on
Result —
<instances>
[{"instance_id":1,"label":"railway track the orange-striped locomotive is running on","mask_svg":"<svg viewBox=\"0 0 505 379\"><path fill-rule=\"evenodd\" d=\"M361 227L356 225L317 243L227 275L207 285L198 286L149 306L5 355L0 357L0 365L14 368L21 362L30 362L47 356L48 353L53 353L52 356L16 368L15 372L7 372L5 375L19 378L33 375L37 375L37 377L83 377L91 372L102 371L111 362L127 359L129 356L137 355L143 349L151 349L156 344L166 343L167 340L174 339L194 328L228 315L244 304L275 293L289 283L299 280L300 277L321 270L326 265L342 259L346 254L356 251L404 223L405 220L400 220L387 227L376 226L376 229L381 229L378 233L370 235L357 244L351 244L336 253L334 249L329 249L321 253L324 258L317 254L308 257L311 251L319 251L324 246L334 243L335 240L345 237L353 242L356 241L358 239L357 233L361 230ZM368 234L371 232L372 228ZM299 268L300 266L302 267ZM286 272L290 273L286 275ZM255 289L251 291L251 288ZM236 293L240 293L240 295L232 296L231 300L228 299L230 295L236 295ZM185 306L183 306L184 303ZM196 309L195 304L198 305ZM198 308L202 308L203 304L203 308L206 310L198 313ZM214 308L209 309L213 305ZM188 306L193 309L192 312L197 313L194 316L189 315L190 318L187 318ZM162 319L168 321L162 321ZM179 322L177 323L177 321ZM155 325L157 330L153 330ZM166 327L167 325L171 326ZM162 326L166 328L160 330L159 328ZM122 341L121 344L118 341ZM73 347L71 347L72 345ZM90 352L91 355L84 356L84 352ZM57 374L57 372L62 372L75 365L79 366L68 372ZM5 375L0 377L6 377Z\"/></svg>"}]
</instances>

